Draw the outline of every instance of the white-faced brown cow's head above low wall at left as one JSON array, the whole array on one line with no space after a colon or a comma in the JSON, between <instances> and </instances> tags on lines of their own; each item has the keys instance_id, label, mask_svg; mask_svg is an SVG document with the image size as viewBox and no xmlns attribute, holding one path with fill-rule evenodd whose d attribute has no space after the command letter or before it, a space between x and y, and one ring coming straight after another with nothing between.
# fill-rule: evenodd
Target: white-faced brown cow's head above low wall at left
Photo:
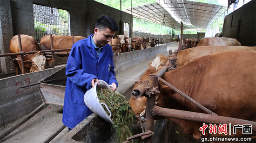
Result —
<instances>
[{"instance_id":1,"label":"white-faced brown cow's head above low wall at left","mask_svg":"<svg viewBox=\"0 0 256 143\"><path fill-rule=\"evenodd\" d=\"M54 62L54 58L46 58L43 53L37 52L27 61L24 61L26 69L30 69L27 72L34 72L46 69L46 63L50 64Z\"/></svg>"}]
</instances>

